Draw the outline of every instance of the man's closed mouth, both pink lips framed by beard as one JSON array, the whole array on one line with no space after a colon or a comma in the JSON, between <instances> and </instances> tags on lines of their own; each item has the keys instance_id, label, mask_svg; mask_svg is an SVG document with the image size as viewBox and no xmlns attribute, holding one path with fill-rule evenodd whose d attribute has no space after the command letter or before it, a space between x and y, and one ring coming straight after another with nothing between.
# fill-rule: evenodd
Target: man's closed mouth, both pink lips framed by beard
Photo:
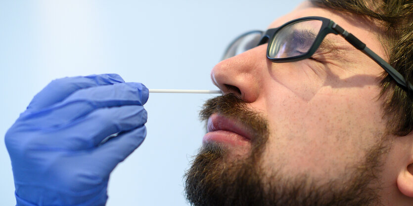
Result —
<instances>
[{"instance_id":1,"label":"man's closed mouth, both pink lips framed by beard","mask_svg":"<svg viewBox=\"0 0 413 206\"><path fill-rule=\"evenodd\" d=\"M215 113L209 117L207 128L203 143L216 142L237 147L251 144L251 132L239 121Z\"/></svg>"}]
</instances>

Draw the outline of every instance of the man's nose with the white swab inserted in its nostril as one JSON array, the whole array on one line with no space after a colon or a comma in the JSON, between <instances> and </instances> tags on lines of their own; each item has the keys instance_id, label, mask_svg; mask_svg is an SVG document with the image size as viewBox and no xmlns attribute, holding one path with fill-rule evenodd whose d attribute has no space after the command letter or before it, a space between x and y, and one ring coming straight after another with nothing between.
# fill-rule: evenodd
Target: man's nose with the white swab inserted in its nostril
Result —
<instances>
[{"instance_id":1,"label":"man's nose with the white swab inserted in its nostril","mask_svg":"<svg viewBox=\"0 0 413 206\"><path fill-rule=\"evenodd\" d=\"M233 93L245 102L254 102L260 95L264 68L267 68L263 48L258 46L221 61L211 71L212 82L223 94Z\"/></svg>"}]
</instances>

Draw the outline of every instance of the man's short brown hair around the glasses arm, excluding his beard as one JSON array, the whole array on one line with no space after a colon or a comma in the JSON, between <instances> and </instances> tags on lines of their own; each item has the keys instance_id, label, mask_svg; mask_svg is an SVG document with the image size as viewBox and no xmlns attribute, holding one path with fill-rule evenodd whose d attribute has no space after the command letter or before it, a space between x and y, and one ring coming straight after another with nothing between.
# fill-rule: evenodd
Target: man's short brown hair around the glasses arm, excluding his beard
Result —
<instances>
[{"instance_id":1,"label":"man's short brown hair around the glasses arm, excluding his beard","mask_svg":"<svg viewBox=\"0 0 413 206\"><path fill-rule=\"evenodd\" d=\"M388 63L413 83L413 0L310 0L314 5L367 18L380 28ZM363 40L362 40L363 41ZM405 136L413 130L413 91L384 72L381 81L388 132Z\"/></svg>"}]
</instances>

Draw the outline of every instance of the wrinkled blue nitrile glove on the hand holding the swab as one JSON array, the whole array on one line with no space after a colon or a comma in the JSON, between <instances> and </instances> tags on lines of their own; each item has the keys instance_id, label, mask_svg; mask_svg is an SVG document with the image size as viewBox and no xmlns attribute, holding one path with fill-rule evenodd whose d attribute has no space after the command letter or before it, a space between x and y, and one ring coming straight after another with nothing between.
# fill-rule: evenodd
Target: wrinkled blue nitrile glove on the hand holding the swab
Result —
<instances>
[{"instance_id":1,"label":"wrinkled blue nitrile glove on the hand holding the swab","mask_svg":"<svg viewBox=\"0 0 413 206\"><path fill-rule=\"evenodd\" d=\"M110 172L145 138L148 95L116 74L50 82L5 135L17 205L104 206Z\"/></svg>"}]
</instances>

